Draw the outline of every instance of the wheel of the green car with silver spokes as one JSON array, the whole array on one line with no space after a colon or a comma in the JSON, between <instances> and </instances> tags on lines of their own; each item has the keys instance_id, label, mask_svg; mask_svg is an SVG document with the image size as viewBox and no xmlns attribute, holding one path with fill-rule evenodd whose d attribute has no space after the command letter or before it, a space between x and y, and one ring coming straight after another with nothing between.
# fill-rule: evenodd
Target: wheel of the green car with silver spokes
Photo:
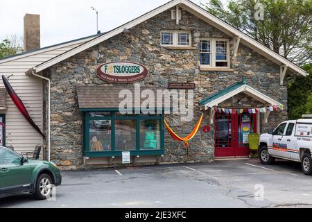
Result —
<instances>
[{"instance_id":1,"label":"wheel of the green car with silver spokes","mask_svg":"<svg viewBox=\"0 0 312 222\"><path fill-rule=\"evenodd\" d=\"M38 200L46 200L52 192L52 179L48 174L40 174L37 178L35 198Z\"/></svg>"}]
</instances>

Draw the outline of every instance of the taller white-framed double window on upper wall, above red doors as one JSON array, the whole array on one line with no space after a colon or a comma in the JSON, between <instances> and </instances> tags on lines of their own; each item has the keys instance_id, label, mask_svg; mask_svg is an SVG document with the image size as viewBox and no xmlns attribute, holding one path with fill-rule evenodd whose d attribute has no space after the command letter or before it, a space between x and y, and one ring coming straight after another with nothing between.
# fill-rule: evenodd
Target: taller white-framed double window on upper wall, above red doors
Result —
<instances>
[{"instance_id":1,"label":"taller white-framed double window on upper wall, above red doors","mask_svg":"<svg viewBox=\"0 0 312 222\"><path fill-rule=\"evenodd\" d=\"M202 67L229 67L229 41L200 40L200 65Z\"/></svg>"}]
</instances>

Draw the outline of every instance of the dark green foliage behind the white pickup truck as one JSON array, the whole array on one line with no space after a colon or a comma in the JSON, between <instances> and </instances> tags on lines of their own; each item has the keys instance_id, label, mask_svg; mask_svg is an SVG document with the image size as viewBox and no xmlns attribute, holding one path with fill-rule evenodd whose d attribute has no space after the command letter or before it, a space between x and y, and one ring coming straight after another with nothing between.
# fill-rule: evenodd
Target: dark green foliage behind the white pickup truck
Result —
<instances>
[{"instance_id":1,"label":"dark green foliage behind the white pickup truck","mask_svg":"<svg viewBox=\"0 0 312 222\"><path fill-rule=\"evenodd\" d=\"M288 117L299 119L302 114L312 114L312 63L302 67L309 75L296 76L288 87Z\"/></svg>"}]
</instances>

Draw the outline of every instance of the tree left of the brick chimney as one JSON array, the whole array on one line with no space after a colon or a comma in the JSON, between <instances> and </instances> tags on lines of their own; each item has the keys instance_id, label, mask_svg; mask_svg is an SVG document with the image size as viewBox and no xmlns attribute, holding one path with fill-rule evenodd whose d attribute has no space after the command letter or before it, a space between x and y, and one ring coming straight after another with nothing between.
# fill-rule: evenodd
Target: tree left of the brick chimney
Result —
<instances>
[{"instance_id":1,"label":"tree left of the brick chimney","mask_svg":"<svg viewBox=\"0 0 312 222\"><path fill-rule=\"evenodd\" d=\"M0 58L14 56L17 53L21 53L21 51L21 42L17 39L16 35L11 35L3 40L3 42L0 42Z\"/></svg>"}]
</instances>

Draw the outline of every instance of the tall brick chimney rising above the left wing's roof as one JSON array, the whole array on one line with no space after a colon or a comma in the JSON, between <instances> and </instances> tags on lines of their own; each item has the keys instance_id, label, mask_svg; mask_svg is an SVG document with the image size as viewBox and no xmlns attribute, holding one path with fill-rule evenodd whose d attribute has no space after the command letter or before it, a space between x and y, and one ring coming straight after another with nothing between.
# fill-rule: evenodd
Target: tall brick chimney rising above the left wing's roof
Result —
<instances>
[{"instance_id":1,"label":"tall brick chimney rising above the left wing's roof","mask_svg":"<svg viewBox=\"0 0 312 222\"><path fill-rule=\"evenodd\" d=\"M40 15L24 16L24 51L40 49Z\"/></svg>"}]
</instances>

